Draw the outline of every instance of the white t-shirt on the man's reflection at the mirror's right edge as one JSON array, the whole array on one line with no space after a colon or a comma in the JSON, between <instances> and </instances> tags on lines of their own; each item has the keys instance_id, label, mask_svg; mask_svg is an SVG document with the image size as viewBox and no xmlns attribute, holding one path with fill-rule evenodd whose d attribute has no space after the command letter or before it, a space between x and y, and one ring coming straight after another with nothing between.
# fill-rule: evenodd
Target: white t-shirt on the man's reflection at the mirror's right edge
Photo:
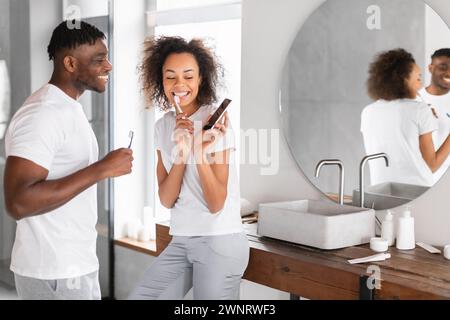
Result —
<instances>
[{"instance_id":1,"label":"white t-shirt on the man's reflection at the mirror's right edge","mask_svg":"<svg viewBox=\"0 0 450 320\"><path fill-rule=\"evenodd\" d=\"M450 133L450 93L444 94L442 96L435 96L429 94L428 91L423 88L419 91L421 101L426 102L430 107L434 108L436 115L438 117L439 128L433 132L433 142L434 148L438 150L441 145L447 139ZM442 166L434 173L434 182L439 181L444 173L450 166L450 157L448 157Z\"/></svg>"}]
</instances>

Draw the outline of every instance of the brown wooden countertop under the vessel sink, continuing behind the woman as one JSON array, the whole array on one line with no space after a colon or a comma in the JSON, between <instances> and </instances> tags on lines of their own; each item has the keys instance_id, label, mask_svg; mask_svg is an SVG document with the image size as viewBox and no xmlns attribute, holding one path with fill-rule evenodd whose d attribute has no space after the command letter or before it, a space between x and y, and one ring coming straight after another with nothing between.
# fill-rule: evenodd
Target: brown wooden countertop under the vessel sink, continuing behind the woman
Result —
<instances>
[{"instance_id":1,"label":"brown wooden countertop under the vessel sink, continuing behind the woman","mask_svg":"<svg viewBox=\"0 0 450 320\"><path fill-rule=\"evenodd\" d=\"M308 299L358 299L369 266L380 271L381 288L374 299L450 299L450 261L416 248L389 249L383 262L350 265L347 260L373 255L368 245L325 251L257 235L257 223L244 224L250 244L250 261L244 278ZM159 255L171 240L168 223L157 224L154 248L141 252ZM130 242L116 244L132 248ZM136 248L135 248L136 249ZM364 282L363 282L364 281Z\"/></svg>"}]
</instances>

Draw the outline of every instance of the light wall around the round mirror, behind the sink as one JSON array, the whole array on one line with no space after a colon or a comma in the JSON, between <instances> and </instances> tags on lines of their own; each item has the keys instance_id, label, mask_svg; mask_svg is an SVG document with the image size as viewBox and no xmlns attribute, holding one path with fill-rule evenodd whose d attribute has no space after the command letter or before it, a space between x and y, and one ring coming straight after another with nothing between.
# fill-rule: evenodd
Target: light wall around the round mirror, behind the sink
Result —
<instances>
[{"instance_id":1,"label":"light wall around the round mirror, behind the sink","mask_svg":"<svg viewBox=\"0 0 450 320\"><path fill-rule=\"evenodd\" d=\"M278 87L291 42L305 19L324 0L245 0L242 2L242 113L243 129L279 128ZM427 0L447 23L447 0ZM264 112L261 112L264 110ZM316 190L302 175L284 140L280 146L280 170L262 176L261 165L241 166L241 194L254 203L285 199L318 199ZM352 168L349 170L357 170ZM450 173L432 190L412 202L416 237L435 245L450 243Z\"/></svg>"}]
</instances>

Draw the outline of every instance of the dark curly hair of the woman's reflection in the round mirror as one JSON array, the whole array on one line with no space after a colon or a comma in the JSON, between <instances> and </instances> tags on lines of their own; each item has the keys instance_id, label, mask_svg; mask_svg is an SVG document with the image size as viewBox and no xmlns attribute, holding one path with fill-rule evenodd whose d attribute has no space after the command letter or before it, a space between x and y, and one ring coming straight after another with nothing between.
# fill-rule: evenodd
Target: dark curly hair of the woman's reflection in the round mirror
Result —
<instances>
[{"instance_id":1,"label":"dark curly hair of the woman's reflection in the round mirror","mask_svg":"<svg viewBox=\"0 0 450 320\"><path fill-rule=\"evenodd\" d=\"M416 61L404 49L379 54L369 68L367 91L374 100L387 101L411 98L407 80Z\"/></svg>"}]
</instances>

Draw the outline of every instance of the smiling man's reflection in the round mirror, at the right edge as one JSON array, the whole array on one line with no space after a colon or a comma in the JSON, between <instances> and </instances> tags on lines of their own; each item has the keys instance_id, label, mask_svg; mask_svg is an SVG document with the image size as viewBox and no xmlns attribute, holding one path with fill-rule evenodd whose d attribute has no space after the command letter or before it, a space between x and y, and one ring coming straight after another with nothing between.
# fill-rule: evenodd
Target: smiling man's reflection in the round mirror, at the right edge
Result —
<instances>
[{"instance_id":1,"label":"smiling man's reflection in the round mirror, at the right edge","mask_svg":"<svg viewBox=\"0 0 450 320\"><path fill-rule=\"evenodd\" d=\"M431 57L428 67L431 73L431 84L419 91L423 101L433 108L438 118L439 129L433 133L436 150L444 143L450 133L450 49L437 50ZM450 159L442 164L433 175L437 182L450 166Z\"/></svg>"}]
</instances>

